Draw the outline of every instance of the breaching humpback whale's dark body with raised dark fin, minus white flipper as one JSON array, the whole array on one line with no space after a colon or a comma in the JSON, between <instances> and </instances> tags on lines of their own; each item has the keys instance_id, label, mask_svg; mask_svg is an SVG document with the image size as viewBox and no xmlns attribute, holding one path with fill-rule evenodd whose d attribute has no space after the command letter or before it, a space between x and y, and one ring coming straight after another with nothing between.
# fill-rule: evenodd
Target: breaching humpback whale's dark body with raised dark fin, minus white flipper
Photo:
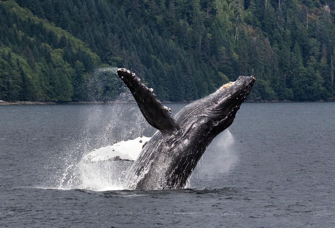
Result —
<instances>
[{"instance_id":1,"label":"breaching humpback whale's dark body with raised dark fin, minus white flipper","mask_svg":"<svg viewBox=\"0 0 335 228\"><path fill-rule=\"evenodd\" d=\"M118 69L147 122L158 131L147 141L126 176L127 189L184 188L213 138L229 127L251 91L255 78L240 76L213 94L180 110L174 117L152 88L136 74Z\"/></svg>"}]
</instances>

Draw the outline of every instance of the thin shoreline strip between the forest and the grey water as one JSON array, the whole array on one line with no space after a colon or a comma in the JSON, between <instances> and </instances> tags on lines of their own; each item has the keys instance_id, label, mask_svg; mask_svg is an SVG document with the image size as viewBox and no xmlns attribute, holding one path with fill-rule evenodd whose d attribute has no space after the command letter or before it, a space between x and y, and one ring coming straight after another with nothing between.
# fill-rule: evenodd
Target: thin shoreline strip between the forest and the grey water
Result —
<instances>
[{"instance_id":1,"label":"thin shoreline strip between the forest and the grey water","mask_svg":"<svg viewBox=\"0 0 335 228\"><path fill-rule=\"evenodd\" d=\"M188 104L193 101L162 101L165 104L171 103L180 103L180 104ZM309 103L309 102L335 102L335 100L316 100L316 101L291 101L291 100L246 100L246 103ZM0 100L1 105L82 105L82 104L126 104L128 102L120 102L120 101L13 101L7 102Z\"/></svg>"}]
</instances>

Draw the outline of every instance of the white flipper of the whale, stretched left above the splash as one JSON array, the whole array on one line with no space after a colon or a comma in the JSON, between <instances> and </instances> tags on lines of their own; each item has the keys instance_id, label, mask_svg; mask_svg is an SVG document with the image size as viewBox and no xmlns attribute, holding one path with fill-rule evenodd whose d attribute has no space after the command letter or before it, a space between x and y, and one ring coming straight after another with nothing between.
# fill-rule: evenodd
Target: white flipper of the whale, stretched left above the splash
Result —
<instances>
[{"instance_id":1,"label":"white flipper of the whale, stretched left above the splash","mask_svg":"<svg viewBox=\"0 0 335 228\"><path fill-rule=\"evenodd\" d=\"M83 156L84 162L98 162L108 160L129 160L134 161L140 154L144 143L151 137L141 136L135 139L120 141L113 145L94 149Z\"/></svg>"}]
</instances>

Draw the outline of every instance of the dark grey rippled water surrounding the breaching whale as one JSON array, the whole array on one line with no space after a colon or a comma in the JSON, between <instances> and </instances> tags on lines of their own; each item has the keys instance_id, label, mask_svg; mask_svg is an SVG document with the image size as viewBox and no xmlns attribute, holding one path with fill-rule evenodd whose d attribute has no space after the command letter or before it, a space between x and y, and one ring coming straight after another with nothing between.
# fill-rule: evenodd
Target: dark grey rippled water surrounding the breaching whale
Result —
<instances>
[{"instance_id":1,"label":"dark grey rippled water surrounding the breaching whale","mask_svg":"<svg viewBox=\"0 0 335 228\"><path fill-rule=\"evenodd\" d=\"M136 108L0 106L0 227L334 227L334 123L335 103L243 104L191 189L92 191L116 164L84 153L154 132Z\"/></svg>"}]
</instances>

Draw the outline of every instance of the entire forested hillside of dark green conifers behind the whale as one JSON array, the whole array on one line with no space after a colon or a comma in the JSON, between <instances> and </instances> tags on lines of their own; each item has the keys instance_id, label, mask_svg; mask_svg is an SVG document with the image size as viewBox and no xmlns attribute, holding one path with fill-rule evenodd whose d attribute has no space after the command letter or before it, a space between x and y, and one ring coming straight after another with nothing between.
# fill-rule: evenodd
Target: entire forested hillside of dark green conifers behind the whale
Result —
<instances>
[{"instance_id":1,"label":"entire forested hillside of dark green conifers behind the whale","mask_svg":"<svg viewBox=\"0 0 335 228\"><path fill-rule=\"evenodd\" d=\"M0 0L0 100L90 100L92 72L106 66L136 72L160 100L199 99L239 75L257 78L253 100L332 100L334 7L333 0ZM119 91L109 77L99 99Z\"/></svg>"}]
</instances>

